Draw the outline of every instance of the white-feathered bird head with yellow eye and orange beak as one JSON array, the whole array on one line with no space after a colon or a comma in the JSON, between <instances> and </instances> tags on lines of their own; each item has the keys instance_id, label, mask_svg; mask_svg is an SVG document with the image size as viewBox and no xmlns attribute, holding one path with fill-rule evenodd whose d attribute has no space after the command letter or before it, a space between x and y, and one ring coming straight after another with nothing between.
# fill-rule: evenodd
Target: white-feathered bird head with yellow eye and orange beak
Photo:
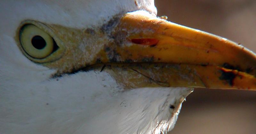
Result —
<instances>
[{"instance_id":1,"label":"white-feathered bird head with yellow eye and orange beak","mask_svg":"<svg viewBox=\"0 0 256 134\"><path fill-rule=\"evenodd\" d=\"M154 1L1 3L5 132L160 133L193 88L256 89L254 53Z\"/></svg>"}]
</instances>

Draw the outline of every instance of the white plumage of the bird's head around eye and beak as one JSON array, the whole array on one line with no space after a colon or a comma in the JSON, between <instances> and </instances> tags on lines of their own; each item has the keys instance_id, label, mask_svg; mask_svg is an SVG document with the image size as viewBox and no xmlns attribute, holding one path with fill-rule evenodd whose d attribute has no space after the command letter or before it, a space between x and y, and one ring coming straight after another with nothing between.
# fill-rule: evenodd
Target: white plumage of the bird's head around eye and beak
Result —
<instances>
[{"instance_id":1,"label":"white plumage of the bird's head around eye and beak","mask_svg":"<svg viewBox=\"0 0 256 134\"><path fill-rule=\"evenodd\" d=\"M190 88L124 91L107 72L52 78L55 69L28 60L14 39L32 19L77 29L96 28L113 15L145 10L153 1L0 2L0 133L160 133L171 130ZM174 108L169 108L170 106Z\"/></svg>"}]
</instances>

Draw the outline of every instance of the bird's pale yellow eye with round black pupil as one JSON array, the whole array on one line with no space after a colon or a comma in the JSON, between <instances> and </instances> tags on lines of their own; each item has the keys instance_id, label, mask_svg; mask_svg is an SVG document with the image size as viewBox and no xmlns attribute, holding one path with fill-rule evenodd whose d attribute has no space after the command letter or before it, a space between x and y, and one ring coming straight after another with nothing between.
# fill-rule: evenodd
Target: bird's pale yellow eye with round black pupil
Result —
<instances>
[{"instance_id":1,"label":"bird's pale yellow eye with round black pupil","mask_svg":"<svg viewBox=\"0 0 256 134\"><path fill-rule=\"evenodd\" d=\"M35 59L44 59L58 48L48 33L32 24L24 25L20 29L20 44L23 50Z\"/></svg>"}]
</instances>

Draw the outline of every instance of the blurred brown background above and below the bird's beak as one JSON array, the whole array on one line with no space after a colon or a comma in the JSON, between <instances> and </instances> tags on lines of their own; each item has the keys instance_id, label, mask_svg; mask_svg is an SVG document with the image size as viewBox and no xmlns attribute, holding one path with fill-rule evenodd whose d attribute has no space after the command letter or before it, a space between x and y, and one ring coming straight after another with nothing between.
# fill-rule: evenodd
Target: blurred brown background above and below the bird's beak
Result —
<instances>
[{"instance_id":1,"label":"blurred brown background above and below the bird's beak","mask_svg":"<svg viewBox=\"0 0 256 134\"><path fill-rule=\"evenodd\" d=\"M157 15L256 52L256 0L155 0ZM168 134L255 134L256 92L195 89Z\"/></svg>"}]
</instances>

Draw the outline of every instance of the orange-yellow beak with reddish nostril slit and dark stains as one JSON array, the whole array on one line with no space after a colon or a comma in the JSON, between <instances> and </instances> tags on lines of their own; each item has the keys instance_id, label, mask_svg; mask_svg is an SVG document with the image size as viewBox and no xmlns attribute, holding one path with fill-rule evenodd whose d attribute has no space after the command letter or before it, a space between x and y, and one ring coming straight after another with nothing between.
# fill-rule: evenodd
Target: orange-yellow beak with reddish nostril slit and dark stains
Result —
<instances>
[{"instance_id":1,"label":"orange-yellow beak with reddish nostril slit and dark stains","mask_svg":"<svg viewBox=\"0 0 256 134\"><path fill-rule=\"evenodd\" d=\"M256 55L227 39L143 13L123 16L110 36L103 63L142 63L131 68L172 87L256 89Z\"/></svg>"}]
</instances>

